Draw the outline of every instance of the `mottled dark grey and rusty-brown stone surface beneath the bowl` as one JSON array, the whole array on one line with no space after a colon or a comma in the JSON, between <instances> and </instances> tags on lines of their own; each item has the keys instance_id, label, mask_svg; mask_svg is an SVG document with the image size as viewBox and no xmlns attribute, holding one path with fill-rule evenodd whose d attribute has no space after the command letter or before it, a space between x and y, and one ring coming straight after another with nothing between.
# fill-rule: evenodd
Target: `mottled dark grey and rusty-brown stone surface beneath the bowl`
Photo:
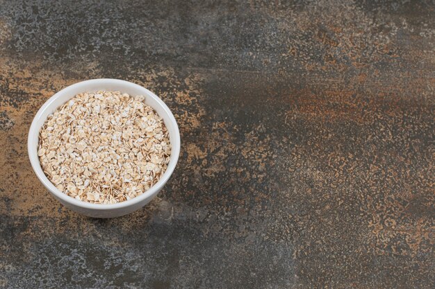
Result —
<instances>
[{"instance_id":1,"label":"mottled dark grey and rusty-brown stone surface beneath the bowl","mask_svg":"<svg viewBox=\"0 0 435 289\"><path fill-rule=\"evenodd\" d=\"M434 288L433 1L1 1L0 288ZM144 85L181 157L85 218L26 137L56 91Z\"/></svg>"}]
</instances>

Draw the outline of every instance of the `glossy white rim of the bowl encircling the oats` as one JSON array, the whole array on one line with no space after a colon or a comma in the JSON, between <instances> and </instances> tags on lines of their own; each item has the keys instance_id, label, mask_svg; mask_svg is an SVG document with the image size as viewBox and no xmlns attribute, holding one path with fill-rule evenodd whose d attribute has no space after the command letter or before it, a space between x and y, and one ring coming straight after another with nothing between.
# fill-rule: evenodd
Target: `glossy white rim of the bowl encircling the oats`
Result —
<instances>
[{"instance_id":1,"label":"glossy white rim of the bowl encircling the oats","mask_svg":"<svg viewBox=\"0 0 435 289\"><path fill-rule=\"evenodd\" d=\"M102 85L104 85L104 83L113 84L115 82L115 84L119 84L120 86L127 85L127 86L131 86L131 87L136 87L137 89L141 89L141 90L145 91L147 93L147 96L154 98L154 100L157 101L158 105L161 105L163 110L165 110L165 112L169 116L169 121L172 123L172 125L174 125L174 129L175 129L175 133L173 136L173 137L175 137L175 139L174 140L170 139L171 145L172 145L170 163L168 164L168 166L165 170L165 173L163 173L163 176L161 177L161 179L159 179L158 182L156 184L154 184L154 186L151 186L150 189L148 189L147 191L145 191L141 195L138 195L137 197L132 198L131 200L126 200L124 202L118 202L116 204L92 204L92 203L85 202L82 200L76 200L75 198L72 198L69 195L67 195L67 194L63 193L62 191L60 191L59 189L57 189L56 186L54 186L54 184L48 179L48 177L44 174L44 172L42 170L42 166L40 165L40 161L39 161L39 157L38 157L38 148L37 148L36 154L35 154L34 148L33 148L33 146L31 146L31 140L34 137L35 130L38 130L37 123L38 123L38 121L40 121L44 111L49 109L49 107L51 107L51 104L54 102L54 100L56 100L56 98L62 96L63 94L68 93L69 91L76 89L77 87L92 84L95 82L102 82L101 83ZM120 89L120 91L121 90L122 89ZM74 94L74 96L75 95L76 94ZM72 96L72 97L74 97L74 96ZM46 121L46 119L44 119L44 122L45 121ZM39 130L37 132L37 135L39 138ZM38 143L39 143L39 141L37 141L37 146L38 146ZM177 144L177 146L174 146L174 143ZM27 139L28 157L30 159L33 171L35 172L38 179L40 179L40 182L42 182L42 184L51 193L53 193L56 196L56 198L59 198L60 200L63 200L64 202L72 204L76 207L81 207L83 209L94 209L94 210L121 209L121 208L126 208L126 207L132 207L135 204L138 204L138 203L142 202L143 200L146 200L150 196L158 193L158 191L160 191L163 188L163 186L165 185L167 180L170 178L170 176L174 172L175 167L177 166L177 162L178 162L179 154L180 154L180 148L181 148L181 139L180 139L180 132L179 132L179 127L177 125L177 121L175 120L174 115L172 114L169 107L167 107L167 105L163 102L163 100L161 100L161 98L156 96L156 94L149 91L145 87L142 87L141 85L137 85L136 83L129 82L126 80L120 80L120 79L114 79L114 78L96 78L96 79L91 79L91 80L84 80L81 82L76 82L76 83L69 85L67 87L64 87L63 89L60 89L60 91L56 92L56 94L51 96L51 98L49 98L42 105L42 107L40 107L38 112L35 114L35 117L33 118L33 121L31 123L31 127L28 131L28 139Z\"/></svg>"}]
</instances>

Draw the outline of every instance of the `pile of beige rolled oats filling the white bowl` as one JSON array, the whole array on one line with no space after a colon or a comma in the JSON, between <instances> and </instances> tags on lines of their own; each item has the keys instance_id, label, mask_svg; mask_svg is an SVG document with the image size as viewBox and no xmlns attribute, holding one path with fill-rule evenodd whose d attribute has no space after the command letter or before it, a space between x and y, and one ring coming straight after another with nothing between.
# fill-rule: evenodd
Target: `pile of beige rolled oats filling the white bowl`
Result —
<instances>
[{"instance_id":1,"label":"pile of beige rolled oats filling the white bowl","mask_svg":"<svg viewBox=\"0 0 435 289\"><path fill-rule=\"evenodd\" d=\"M40 130L49 180L85 202L130 200L158 182L170 161L169 134L143 96L97 91L74 96Z\"/></svg>"}]
</instances>

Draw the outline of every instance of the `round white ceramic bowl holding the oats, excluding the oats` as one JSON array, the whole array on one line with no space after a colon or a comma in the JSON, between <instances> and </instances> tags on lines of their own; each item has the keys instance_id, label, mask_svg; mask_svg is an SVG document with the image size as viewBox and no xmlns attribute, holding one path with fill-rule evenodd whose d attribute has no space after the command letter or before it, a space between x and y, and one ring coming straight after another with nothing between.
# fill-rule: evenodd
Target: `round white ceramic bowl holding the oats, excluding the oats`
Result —
<instances>
[{"instance_id":1,"label":"round white ceramic bowl holding the oats, excluding the oats","mask_svg":"<svg viewBox=\"0 0 435 289\"><path fill-rule=\"evenodd\" d=\"M59 191L54 184L52 184L49 179L44 175L42 171L40 161L38 159L38 137L39 131L47 120L49 114L53 113L60 105L69 100L69 98L74 97L76 94L81 92L95 92L98 90L112 90L121 91L131 96L142 95L145 96L145 103L156 110L159 116L163 119L167 130L169 131L170 142L172 145L170 162L167 166L163 177L154 184L148 191L142 193L136 198L131 200L120 202L117 204L90 204L88 202L83 202L69 197L65 193ZM131 213L145 206L152 198L154 198L159 191L165 186L167 180L172 175L180 154L180 132L178 129L177 121L175 121L172 112L163 103L163 101L153 94L148 89L136 85L134 83L117 80L117 79L94 79L86 80L83 82L70 85L62 90L60 90L54 96L51 96L44 105L40 108L38 113L33 119L31 128L28 132L28 157L30 158L33 170L35 170L36 176L42 184L49 190L51 195L54 196L60 203L64 204L65 207L76 211L77 213L82 213L83 215L95 217L95 218L113 218L118 216L123 216L127 213ZM48 197L47 197L48 198Z\"/></svg>"}]
</instances>

